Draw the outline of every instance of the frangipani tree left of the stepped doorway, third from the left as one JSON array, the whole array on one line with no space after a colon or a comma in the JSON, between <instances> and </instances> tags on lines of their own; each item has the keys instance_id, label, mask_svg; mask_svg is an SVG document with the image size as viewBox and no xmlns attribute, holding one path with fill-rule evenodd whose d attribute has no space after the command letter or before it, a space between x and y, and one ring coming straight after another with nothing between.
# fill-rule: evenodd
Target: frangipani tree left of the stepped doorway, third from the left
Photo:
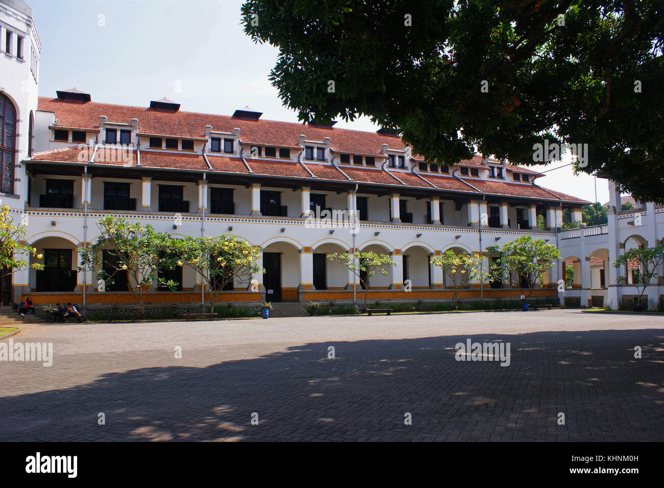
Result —
<instances>
[{"instance_id":1,"label":"frangipani tree left of the stepped doorway, third from the left","mask_svg":"<svg viewBox=\"0 0 664 488\"><path fill-rule=\"evenodd\" d=\"M258 264L260 248L233 235L189 236L175 243L174 253L179 257L179 266L189 266L203 278L210 292L211 312L225 285L236 278L248 282L252 274L264 272Z\"/></svg>"}]
</instances>

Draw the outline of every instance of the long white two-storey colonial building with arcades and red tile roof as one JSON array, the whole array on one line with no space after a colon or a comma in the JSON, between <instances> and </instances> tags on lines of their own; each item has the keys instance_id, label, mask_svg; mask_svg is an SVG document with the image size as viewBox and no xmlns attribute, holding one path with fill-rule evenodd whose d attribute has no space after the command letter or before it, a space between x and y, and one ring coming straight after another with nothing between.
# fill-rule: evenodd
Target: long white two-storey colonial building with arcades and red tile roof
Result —
<instances>
[{"instance_id":1,"label":"long white two-storey colonial building with arcades and red tile roof","mask_svg":"<svg viewBox=\"0 0 664 488\"><path fill-rule=\"evenodd\" d=\"M98 220L108 215L174 237L226 233L260 246L266 272L253 277L258 292L238 277L220 295L231 303L350 302L357 279L326 255L353 250L396 262L388 276L371 280L372 301L446 300L452 291L429 264L432 256L448 249L486 256L487 246L524 234L578 262L578 284L562 297L612 301L625 291L612 287L610 272L591 280L600 273L589 259L600 256L608 267L620 243L649 244L664 233L663 210L652 204L639 210L647 232L627 236L622 212L608 226L560 232L562 210L580 221L588 202L540 187L537 172L505 161L475 157L439 169L388 131L276 122L249 108L232 116L185 112L166 99L106 104L76 89L38 98L40 41L30 15L22 1L0 0L0 198L27 223L25 243L42 254L44 269L5 278L3 303L27 295L35 303L135 303L122 283L102 292L94 271L77 272L78 248L94 242ZM343 222L313 218L320 216ZM539 216L545 230L537 228ZM537 296L558 295L562 267ZM199 303L200 276L186 267L169 276L177 291L155 283L146 303ZM461 297L518 295L508 284L475 282Z\"/></svg>"}]
</instances>

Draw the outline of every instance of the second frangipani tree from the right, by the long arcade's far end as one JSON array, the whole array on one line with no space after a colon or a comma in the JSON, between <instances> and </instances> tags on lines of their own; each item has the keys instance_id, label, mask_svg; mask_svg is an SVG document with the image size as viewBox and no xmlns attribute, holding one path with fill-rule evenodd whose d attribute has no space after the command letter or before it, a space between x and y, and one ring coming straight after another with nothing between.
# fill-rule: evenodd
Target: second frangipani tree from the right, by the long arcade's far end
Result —
<instances>
[{"instance_id":1,"label":"second frangipani tree from the right, by the long arcade's far end","mask_svg":"<svg viewBox=\"0 0 664 488\"><path fill-rule=\"evenodd\" d=\"M535 285L543 284L544 273L560 259L556 246L546 244L542 239L533 240L531 236L521 236L506 242L502 248L487 246L487 254L499 256L498 260L491 263L491 280L507 279L511 285L519 287L525 299L533 294Z\"/></svg>"}]
</instances>

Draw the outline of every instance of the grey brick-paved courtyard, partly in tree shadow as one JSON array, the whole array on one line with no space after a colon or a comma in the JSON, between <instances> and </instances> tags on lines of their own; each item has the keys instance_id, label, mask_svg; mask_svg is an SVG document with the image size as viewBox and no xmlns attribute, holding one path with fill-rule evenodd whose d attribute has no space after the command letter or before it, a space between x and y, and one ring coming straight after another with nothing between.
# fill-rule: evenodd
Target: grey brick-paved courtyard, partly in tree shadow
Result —
<instances>
[{"instance_id":1,"label":"grey brick-paved courtyard, partly in tree shadow","mask_svg":"<svg viewBox=\"0 0 664 488\"><path fill-rule=\"evenodd\" d=\"M511 343L511 365L455 361L467 338ZM0 362L0 441L664 440L661 317L32 324L13 339L52 342L54 360Z\"/></svg>"}]
</instances>

